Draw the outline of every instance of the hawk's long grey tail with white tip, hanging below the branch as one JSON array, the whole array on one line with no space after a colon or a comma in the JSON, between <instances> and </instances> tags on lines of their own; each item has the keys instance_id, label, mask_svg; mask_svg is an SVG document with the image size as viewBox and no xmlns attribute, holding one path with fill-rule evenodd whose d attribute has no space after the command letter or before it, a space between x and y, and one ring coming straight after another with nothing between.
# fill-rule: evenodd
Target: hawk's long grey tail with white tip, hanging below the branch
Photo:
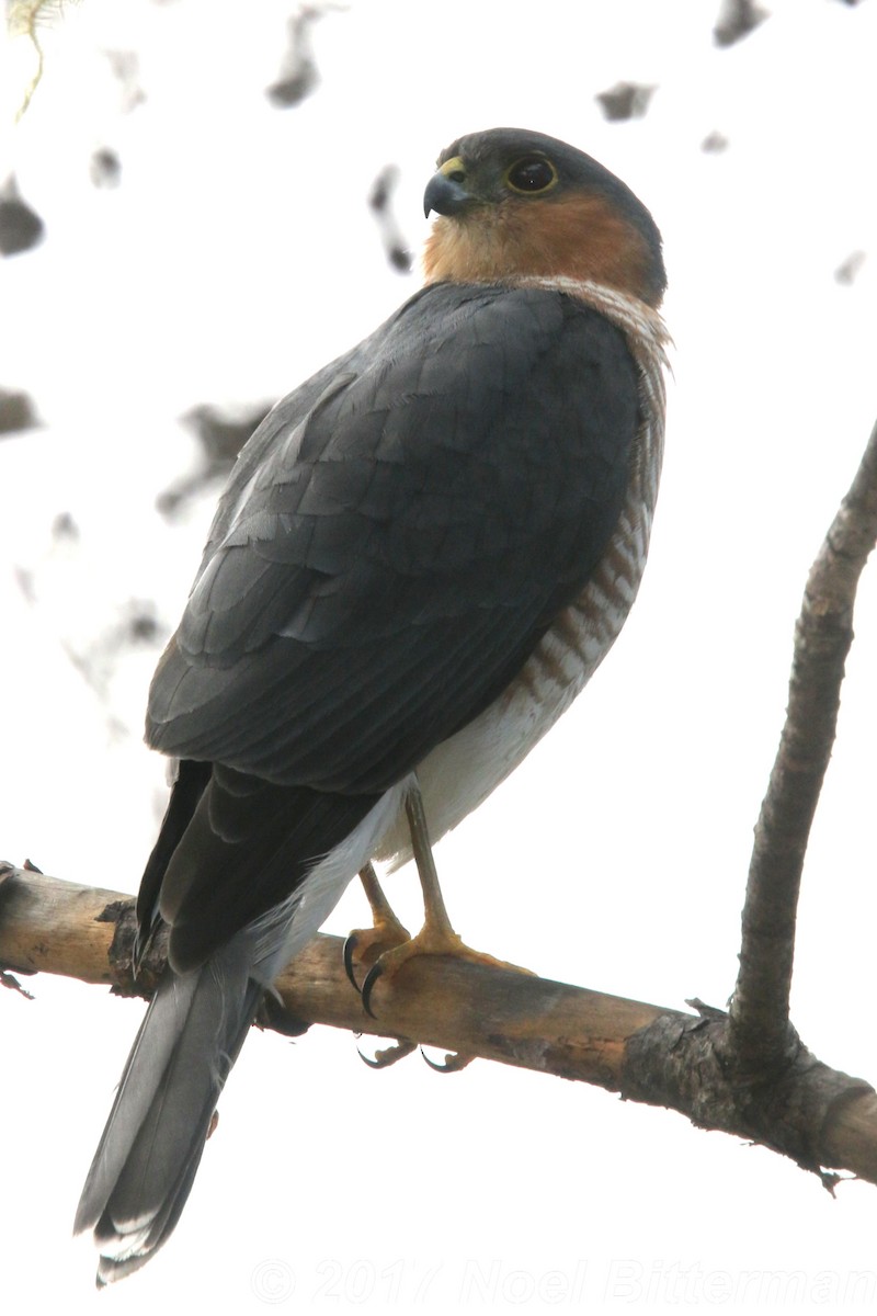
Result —
<instances>
[{"instance_id":1,"label":"hawk's long grey tail with white tip, hanging below the branch","mask_svg":"<svg viewBox=\"0 0 877 1316\"><path fill-rule=\"evenodd\" d=\"M168 969L159 983L76 1212L75 1232L95 1230L99 1287L146 1265L174 1232L263 991L251 966L245 932L200 969Z\"/></svg>"}]
</instances>

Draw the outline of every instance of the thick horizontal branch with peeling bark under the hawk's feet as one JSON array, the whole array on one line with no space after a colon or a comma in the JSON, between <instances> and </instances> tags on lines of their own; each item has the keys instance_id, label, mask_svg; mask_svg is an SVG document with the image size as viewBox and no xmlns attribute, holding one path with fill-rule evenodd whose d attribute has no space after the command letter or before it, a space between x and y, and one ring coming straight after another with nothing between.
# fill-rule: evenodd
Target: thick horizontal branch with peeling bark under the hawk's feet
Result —
<instances>
[{"instance_id":1,"label":"thick horizontal branch with peeling bark under the hawk's feet","mask_svg":"<svg viewBox=\"0 0 877 1316\"><path fill-rule=\"evenodd\" d=\"M5 875L5 882L3 880ZM130 969L133 900L37 873L0 869L0 963L149 994ZM150 966L149 982L160 971ZM763 1142L799 1165L852 1170L877 1183L877 1095L799 1044L781 1074L739 1083L727 1019L548 982L511 970L421 957L387 987L369 1019L347 982L338 937L316 937L277 980L268 1026L312 1023L377 1033L597 1084L667 1105L703 1128Z\"/></svg>"}]
</instances>

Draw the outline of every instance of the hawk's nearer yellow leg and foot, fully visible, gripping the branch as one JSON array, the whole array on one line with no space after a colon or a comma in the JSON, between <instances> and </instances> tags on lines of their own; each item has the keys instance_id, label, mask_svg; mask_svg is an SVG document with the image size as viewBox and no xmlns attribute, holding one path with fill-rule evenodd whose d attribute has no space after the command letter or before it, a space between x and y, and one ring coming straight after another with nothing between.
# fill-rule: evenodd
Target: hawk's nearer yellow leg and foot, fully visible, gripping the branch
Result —
<instances>
[{"instance_id":1,"label":"hawk's nearer yellow leg and foot, fully visible, gripping the branch","mask_svg":"<svg viewBox=\"0 0 877 1316\"><path fill-rule=\"evenodd\" d=\"M438 873L435 871L433 848L430 845L429 830L426 826L426 813L423 811L423 797L415 780L412 783L405 796L405 812L408 815L408 825L412 833L414 862L417 865L417 873L423 891L423 926L415 937L410 937L401 945L385 951L380 959L372 965L366 975L366 980L362 986L362 998L364 1008L369 1015L372 1015L372 1017L375 1016L371 1009L371 994L377 979L394 976L402 965L414 955L452 955L456 959L468 959L479 965L490 965L493 967L518 967L517 965L509 965L502 959L496 959L493 955L488 955L481 950L473 950L471 946L467 946L463 938L454 930L444 907L444 898L442 896L442 888L439 887ZM527 973L527 970L522 971Z\"/></svg>"}]
</instances>

